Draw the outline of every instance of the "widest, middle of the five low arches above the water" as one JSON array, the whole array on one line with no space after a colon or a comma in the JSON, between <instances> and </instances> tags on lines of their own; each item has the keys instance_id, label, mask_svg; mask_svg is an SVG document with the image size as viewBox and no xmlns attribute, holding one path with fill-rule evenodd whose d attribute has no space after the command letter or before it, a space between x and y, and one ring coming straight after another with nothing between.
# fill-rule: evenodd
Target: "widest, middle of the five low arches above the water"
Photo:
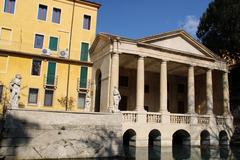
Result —
<instances>
[{"instance_id":1,"label":"widest, middle of the five low arches above the water","mask_svg":"<svg viewBox=\"0 0 240 160\"><path fill-rule=\"evenodd\" d=\"M177 130L172 136L172 145L191 145L190 134L183 130Z\"/></svg>"}]
</instances>

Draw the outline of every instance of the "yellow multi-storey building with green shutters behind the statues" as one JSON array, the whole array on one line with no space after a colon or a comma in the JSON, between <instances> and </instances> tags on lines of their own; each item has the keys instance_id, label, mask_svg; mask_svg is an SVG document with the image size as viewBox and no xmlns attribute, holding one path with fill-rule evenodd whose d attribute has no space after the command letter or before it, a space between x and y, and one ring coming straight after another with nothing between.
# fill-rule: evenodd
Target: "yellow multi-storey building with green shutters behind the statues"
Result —
<instances>
[{"instance_id":1,"label":"yellow multi-storey building with green shutters behind the statues","mask_svg":"<svg viewBox=\"0 0 240 160\"><path fill-rule=\"evenodd\" d=\"M99 7L85 0L3 0L1 104L8 101L9 82L20 74L19 107L82 111L91 93L88 49Z\"/></svg>"}]
</instances>

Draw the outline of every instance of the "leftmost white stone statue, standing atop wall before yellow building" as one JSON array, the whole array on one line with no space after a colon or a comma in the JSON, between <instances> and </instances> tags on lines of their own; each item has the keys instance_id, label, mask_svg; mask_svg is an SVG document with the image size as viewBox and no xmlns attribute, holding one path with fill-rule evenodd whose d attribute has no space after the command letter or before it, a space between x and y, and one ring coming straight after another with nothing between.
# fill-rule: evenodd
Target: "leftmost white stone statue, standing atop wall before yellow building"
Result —
<instances>
[{"instance_id":1,"label":"leftmost white stone statue, standing atop wall before yellow building","mask_svg":"<svg viewBox=\"0 0 240 160\"><path fill-rule=\"evenodd\" d=\"M10 106L12 109L18 108L18 100L20 98L21 75L16 74L15 78L9 84L10 89Z\"/></svg>"}]
</instances>

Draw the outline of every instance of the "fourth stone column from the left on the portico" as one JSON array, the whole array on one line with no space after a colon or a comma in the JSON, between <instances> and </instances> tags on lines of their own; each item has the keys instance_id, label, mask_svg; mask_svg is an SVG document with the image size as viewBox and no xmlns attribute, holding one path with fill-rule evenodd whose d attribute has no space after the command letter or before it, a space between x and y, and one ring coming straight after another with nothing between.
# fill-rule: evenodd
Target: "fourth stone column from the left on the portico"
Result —
<instances>
[{"instance_id":1,"label":"fourth stone column from the left on the portico","mask_svg":"<svg viewBox=\"0 0 240 160\"><path fill-rule=\"evenodd\" d=\"M195 113L194 67L188 67L188 113Z\"/></svg>"}]
</instances>

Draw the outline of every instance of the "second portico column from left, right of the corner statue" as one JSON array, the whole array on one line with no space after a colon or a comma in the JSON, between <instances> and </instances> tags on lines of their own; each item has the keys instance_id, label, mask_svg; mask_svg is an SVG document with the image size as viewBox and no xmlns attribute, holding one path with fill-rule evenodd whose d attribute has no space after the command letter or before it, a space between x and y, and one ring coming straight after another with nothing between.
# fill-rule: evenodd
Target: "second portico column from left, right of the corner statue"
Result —
<instances>
[{"instance_id":1,"label":"second portico column from left, right of the corner statue","mask_svg":"<svg viewBox=\"0 0 240 160\"><path fill-rule=\"evenodd\" d=\"M137 60L137 97L136 97L136 110L144 110L144 57L139 56Z\"/></svg>"}]
</instances>

